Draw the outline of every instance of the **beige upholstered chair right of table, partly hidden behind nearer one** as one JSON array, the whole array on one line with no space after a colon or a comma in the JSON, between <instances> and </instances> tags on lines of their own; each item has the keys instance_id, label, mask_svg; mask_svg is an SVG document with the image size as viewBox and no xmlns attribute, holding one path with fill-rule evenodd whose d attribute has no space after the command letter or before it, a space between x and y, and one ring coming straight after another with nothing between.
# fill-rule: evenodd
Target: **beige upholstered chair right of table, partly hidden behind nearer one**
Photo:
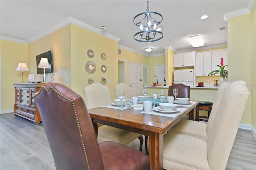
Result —
<instances>
[{"instance_id":1,"label":"beige upholstered chair right of table, partly hidden behind nearer one","mask_svg":"<svg viewBox=\"0 0 256 170\"><path fill-rule=\"evenodd\" d=\"M236 83L232 84L232 86L235 86ZM178 134L186 134L190 135L196 138L200 138L202 140L208 140L206 130L209 130L212 128L212 124L214 122L214 118L217 112L217 109L220 104L220 99L222 98L223 92L226 88L230 86L230 82L223 83L216 93L215 99L214 99L214 105L212 107L211 115L208 120L208 124L192 121L192 120L180 120L177 124L175 124L169 132L175 132ZM231 86L231 87L232 87Z\"/></svg>"}]
</instances>

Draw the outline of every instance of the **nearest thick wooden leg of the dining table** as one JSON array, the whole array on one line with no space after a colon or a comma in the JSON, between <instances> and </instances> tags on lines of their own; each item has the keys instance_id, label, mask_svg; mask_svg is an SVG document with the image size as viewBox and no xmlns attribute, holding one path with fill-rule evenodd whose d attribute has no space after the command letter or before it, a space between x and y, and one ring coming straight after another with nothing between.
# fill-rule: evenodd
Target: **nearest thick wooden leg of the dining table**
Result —
<instances>
[{"instance_id":1,"label":"nearest thick wooden leg of the dining table","mask_svg":"<svg viewBox=\"0 0 256 170\"><path fill-rule=\"evenodd\" d=\"M150 132L149 133L149 160L150 170L163 169L163 147L164 134Z\"/></svg>"}]
</instances>

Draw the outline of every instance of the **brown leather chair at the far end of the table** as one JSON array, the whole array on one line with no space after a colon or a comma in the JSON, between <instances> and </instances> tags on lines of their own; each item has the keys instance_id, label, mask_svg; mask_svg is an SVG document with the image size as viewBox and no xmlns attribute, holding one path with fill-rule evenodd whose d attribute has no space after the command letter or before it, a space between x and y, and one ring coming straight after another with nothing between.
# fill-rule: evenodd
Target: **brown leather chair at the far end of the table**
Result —
<instances>
[{"instance_id":1,"label":"brown leather chair at the far end of the table","mask_svg":"<svg viewBox=\"0 0 256 170\"><path fill-rule=\"evenodd\" d=\"M169 86L168 96L174 96L172 93L172 90L174 88L178 88L178 90L179 90L179 93L176 96L176 98L190 98L190 86L187 86L182 83L173 84L173 85Z\"/></svg>"}]
</instances>

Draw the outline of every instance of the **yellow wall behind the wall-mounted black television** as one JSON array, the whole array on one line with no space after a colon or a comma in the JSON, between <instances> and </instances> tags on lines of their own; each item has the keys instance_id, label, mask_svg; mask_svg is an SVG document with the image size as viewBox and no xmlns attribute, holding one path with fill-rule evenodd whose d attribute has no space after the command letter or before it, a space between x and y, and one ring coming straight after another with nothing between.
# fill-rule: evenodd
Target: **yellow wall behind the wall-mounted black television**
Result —
<instances>
[{"instance_id":1,"label":"yellow wall behind the wall-mounted black television","mask_svg":"<svg viewBox=\"0 0 256 170\"><path fill-rule=\"evenodd\" d=\"M70 24L28 44L28 64L30 73L35 74L35 81L42 81L43 74L36 73L36 56L52 51L53 82L64 84L71 88L71 46ZM52 73L48 73L48 82ZM46 76L47 77L47 76ZM70 81L66 83L66 79Z\"/></svg>"}]
</instances>

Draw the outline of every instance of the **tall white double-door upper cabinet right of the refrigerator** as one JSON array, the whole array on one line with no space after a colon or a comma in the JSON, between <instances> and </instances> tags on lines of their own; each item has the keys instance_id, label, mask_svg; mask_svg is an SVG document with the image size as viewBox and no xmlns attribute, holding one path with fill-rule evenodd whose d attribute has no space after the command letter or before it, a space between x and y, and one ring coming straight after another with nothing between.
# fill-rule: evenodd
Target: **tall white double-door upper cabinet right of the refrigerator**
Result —
<instances>
[{"instance_id":1,"label":"tall white double-door upper cabinet right of the refrigerator","mask_svg":"<svg viewBox=\"0 0 256 170\"><path fill-rule=\"evenodd\" d=\"M196 76L208 76L212 71L212 52L196 54Z\"/></svg>"}]
</instances>

